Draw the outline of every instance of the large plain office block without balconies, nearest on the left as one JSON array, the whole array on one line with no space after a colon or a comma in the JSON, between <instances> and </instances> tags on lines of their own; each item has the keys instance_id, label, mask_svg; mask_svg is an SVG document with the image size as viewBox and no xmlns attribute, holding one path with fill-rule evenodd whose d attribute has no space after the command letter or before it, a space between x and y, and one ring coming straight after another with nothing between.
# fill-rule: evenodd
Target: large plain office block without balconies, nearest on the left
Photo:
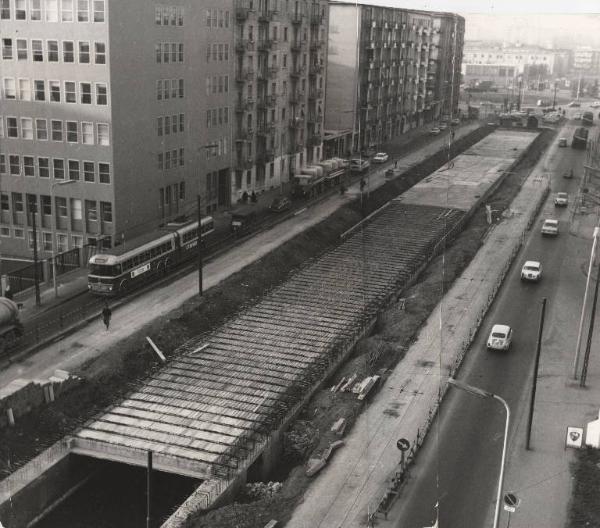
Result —
<instances>
[{"instance_id":1,"label":"large plain office block without balconies, nearest on the left","mask_svg":"<svg viewBox=\"0 0 600 528\"><path fill-rule=\"evenodd\" d=\"M0 0L0 240L41 258L230 202L227 0Z\"/></svg>"}]
</instances>

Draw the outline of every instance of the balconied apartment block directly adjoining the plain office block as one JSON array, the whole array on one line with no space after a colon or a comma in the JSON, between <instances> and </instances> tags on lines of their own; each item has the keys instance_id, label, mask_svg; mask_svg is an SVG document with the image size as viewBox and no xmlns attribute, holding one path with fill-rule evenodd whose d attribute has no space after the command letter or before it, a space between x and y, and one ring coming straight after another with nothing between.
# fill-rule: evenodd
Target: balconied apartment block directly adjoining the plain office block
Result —
<instances>
[{"instance_id":1,"label":"balconied apartment block directly adjoining the plain office block","mask_svg":"<svg viewBox=\"0 0 600 528\"><path fill-rule=\"evenodd\" d=\"M326 1L236 0L233 197L321 159L327 15Z\"/></svg>"}]
</instances>

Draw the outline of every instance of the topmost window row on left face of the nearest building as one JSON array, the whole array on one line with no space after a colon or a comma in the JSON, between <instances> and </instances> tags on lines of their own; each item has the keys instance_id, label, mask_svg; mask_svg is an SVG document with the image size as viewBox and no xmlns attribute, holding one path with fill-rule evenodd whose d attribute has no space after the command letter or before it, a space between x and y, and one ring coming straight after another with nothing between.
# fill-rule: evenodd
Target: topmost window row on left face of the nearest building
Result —
<instances>
[{"instance_id":1,"label":"topmost window row on left face of the nearest building","mask_svg":"<svg viewBox=\"0 0 600 528\"><path fill-rule=\"evenodd\" d=\"M105 0L0 0L0 19L104 22Z\"/></svg>"}]
</instances>

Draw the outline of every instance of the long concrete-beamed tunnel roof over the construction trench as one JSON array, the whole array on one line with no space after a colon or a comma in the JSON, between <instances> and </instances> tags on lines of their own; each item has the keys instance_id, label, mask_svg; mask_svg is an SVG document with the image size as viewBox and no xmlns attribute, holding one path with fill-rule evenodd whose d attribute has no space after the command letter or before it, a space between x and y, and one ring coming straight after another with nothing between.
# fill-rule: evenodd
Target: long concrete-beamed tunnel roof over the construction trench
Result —
<instances>
[{"instance_id":1,"label":"long concrete-beamed tunnel roof over the construction trench","mask_svg":"<svg viewBox=\"0 0 600 528\"><path fill-rule=\"evenodd\" d=\"M22 486L10 503L0 495L0 519L11 527L28 525L87 478L77 468L91 471L97 464L92 459L143 468L152 451L157 472L194 479L188 510L190 501L207 509L230 500L250 468L266 478L290 420L535 137L502 131L488 136L256 306L187 343L143 388L55 446L54 457L34 461L39 474L29 482L47 487L54 472L60 485L52 493ZM61 472L61 466L69 469ZM7 480L23 482L25 470L35 476L26 466ZM20 518L16 506L19 500L31 504L32 493L39 511ZM175 513L164 526L178 526L179 518Z\"/></svg>"}]
</instances>

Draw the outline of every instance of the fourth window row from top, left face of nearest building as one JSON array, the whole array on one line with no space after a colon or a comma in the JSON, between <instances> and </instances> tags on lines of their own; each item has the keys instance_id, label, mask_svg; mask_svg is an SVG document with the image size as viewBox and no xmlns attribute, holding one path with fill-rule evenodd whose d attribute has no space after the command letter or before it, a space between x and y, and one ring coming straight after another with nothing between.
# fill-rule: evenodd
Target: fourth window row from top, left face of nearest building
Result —
<instances>
[{"instance_id":1,"label":"fourth window row from top, left face of nearest building","mask_svg":"<svg viewBox=\"0 0 600 528\"><path fill-rule=\"evenodd\" d=\"M19 123L20 122L20 123ZM35 122L35 130L34 130ZM19 127L20 124L20 127ZM20 128L20 134L19 134ZM94 135L94 129L96 134ZM0 138L5 136L4 119L0 117ZM62 119L50 119L50 131L48 131L48 120L45 118L16 117L6 118L6 137L35 139L38 141L67 141L67 143L81 143L82 145L110 145L110 127L107 123L64 121Z\"/></svg>"}]
</instances>

